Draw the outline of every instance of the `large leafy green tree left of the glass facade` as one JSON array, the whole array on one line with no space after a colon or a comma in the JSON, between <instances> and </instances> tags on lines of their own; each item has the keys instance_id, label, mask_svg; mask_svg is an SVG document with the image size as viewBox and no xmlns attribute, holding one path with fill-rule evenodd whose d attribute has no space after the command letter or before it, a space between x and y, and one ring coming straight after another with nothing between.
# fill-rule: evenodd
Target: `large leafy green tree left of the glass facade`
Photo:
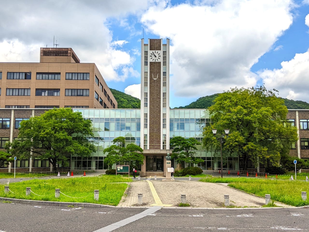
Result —
<instances>
[{"instance_id":1,"label":"large leafy green tree left of the glass facade","mask_svg":"<svg viewBox=\"0 0 309 232\"><path fill-rule=\"evenodd\" d=\"M70 108L48 110L20 123L18 139L10 144L11 154L21 159L48 159L55 169L58 162L67 164L71 155L91 156L93 141L83 142L83 138L93 135L91 127L90 120L84 120L80 112Z\"/></svg>"}]
</instances>

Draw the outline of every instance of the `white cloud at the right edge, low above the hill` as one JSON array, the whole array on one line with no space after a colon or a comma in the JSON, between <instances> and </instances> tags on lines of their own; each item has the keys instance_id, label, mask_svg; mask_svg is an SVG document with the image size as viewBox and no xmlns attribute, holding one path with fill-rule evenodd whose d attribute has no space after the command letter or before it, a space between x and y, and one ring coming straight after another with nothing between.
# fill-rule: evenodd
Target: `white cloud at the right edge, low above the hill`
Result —
<instances>
[{"instance_id":1,"label":"white cloud at the right edge, low above the hill","mask_svg":"<svg viewBox=\"0 0 309 232\"><path fill-rule=\"evenodd\" d=\"M290 61L281 62L281 69L260 71L266 88L275 88L281 97L308 101L309 51L295 54Z\"/></svg>"}]
</instances>

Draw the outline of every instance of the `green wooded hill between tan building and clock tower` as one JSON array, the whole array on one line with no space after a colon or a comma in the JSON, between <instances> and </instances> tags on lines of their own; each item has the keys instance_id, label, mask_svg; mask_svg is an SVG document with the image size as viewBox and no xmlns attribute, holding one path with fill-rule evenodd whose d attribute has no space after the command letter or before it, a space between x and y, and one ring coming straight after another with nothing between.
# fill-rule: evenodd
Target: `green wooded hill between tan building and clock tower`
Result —
<instances>
[{"instance_id":1,"label":"green wooded hill between tan building and clock tower","mask_svg":"<svg viewBox=\"0 0 309 232\"><path fill-rule=\"evenodd\" d=\"M137 97L132 97L129 94L118 91L113 88L109 88L114 95L119 109L140 109L141 108L141 100Z\"/></svg>"}]
</instances>

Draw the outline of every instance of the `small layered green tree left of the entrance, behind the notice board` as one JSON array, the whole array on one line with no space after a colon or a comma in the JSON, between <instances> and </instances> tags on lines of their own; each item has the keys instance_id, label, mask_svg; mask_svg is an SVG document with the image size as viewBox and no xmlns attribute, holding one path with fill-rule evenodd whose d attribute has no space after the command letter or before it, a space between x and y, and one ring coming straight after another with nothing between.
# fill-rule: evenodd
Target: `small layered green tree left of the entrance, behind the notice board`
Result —
<instances>
[{"instance_id":1,"label":"small layered green tree left of the entrance, behind the notice board","mask_svg":"<svg viewBox=\"0 0 309 232\"><path fill-rule=\"evenodd\" d=\"M117 137L113 140L113 145L104 149L104 154L108 153L104 162L108 165L130 162L132 165L144 163L143 149L136 144L128 144L125 146L125 137Z\"/></svg>"}]
</instances>

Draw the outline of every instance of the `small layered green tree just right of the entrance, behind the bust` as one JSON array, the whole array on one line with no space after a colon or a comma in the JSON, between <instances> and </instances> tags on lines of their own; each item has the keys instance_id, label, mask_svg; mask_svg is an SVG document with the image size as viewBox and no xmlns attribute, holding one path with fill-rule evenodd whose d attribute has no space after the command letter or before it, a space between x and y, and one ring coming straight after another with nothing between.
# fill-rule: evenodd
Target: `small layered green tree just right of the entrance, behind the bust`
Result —
<instances>
[{"instance_id":1,"label":"small layered green tree just right of the entrance, behind the bust","mask_svg":"<svg viewBox=\"0 0 309 232\"><path fill-rule=\"evenodd\" d=\"M170 140L170 146L175 147L172 151L171 158L176 159L177 163L181 163L182 161L185 161L186 164L204 162L201 158L196 157L196 145L200 144L194 138L185 139L181 136L175 136Z\"/></svg>"}]
</instances>

